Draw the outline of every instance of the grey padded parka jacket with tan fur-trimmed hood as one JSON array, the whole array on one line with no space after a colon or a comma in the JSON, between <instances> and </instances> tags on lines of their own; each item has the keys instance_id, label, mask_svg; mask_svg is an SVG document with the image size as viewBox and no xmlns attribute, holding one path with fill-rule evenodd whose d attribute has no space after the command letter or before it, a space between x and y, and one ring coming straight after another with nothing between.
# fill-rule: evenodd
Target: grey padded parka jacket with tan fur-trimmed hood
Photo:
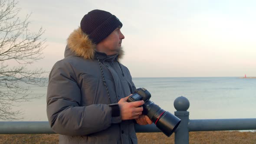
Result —
<instances>
[{"instance_id":1,"label":"grey padded parka jacket with tan fur-trimmed hood","mask_svg":"<svg viewBox=\"0 0 256 144\"><path fill-rule=\"evenodd\" d=\"M118 62L122 53L96 52L80 28L70 34L47 89L47 116L60 144L137 144L135 122L113 115L112 106L136 89L129 70Z\"/></svg>"}]
</instances>

